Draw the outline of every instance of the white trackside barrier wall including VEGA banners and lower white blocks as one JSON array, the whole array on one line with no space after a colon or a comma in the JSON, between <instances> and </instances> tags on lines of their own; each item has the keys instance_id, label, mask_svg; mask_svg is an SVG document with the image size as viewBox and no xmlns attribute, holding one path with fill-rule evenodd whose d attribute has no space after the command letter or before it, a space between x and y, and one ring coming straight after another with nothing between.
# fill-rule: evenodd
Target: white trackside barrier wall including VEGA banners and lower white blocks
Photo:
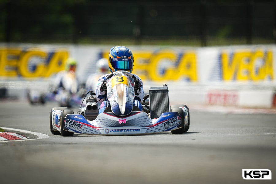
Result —
<instances>
[{"instance_id":1,"label":"white trackside barrier wall including VEGA banners and lower white blocks","mask_svg":"<svg viewBox=\"0 0 276 184\"><path fill-rule=\"evenodd\" d=\"M68 57L78 60L77 75L85 82L98 59L113 45L47 45L0 43L0 94L47 85L63 70ZM168 83L170 98L205 105L273 108L276 106L276 46L224 47L128 46L133 73L144 88ZM35 84L35 85L34 85ZM146 89L146 88L145 88Z\"/></svg>"}]
</instances>

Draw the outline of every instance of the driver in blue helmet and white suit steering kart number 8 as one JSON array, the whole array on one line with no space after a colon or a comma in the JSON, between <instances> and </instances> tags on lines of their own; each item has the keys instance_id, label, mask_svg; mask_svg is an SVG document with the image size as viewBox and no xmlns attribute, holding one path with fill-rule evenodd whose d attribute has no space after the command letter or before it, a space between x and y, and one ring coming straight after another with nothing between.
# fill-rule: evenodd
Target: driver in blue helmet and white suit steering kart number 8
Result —
<instances>
[{"instance_id":1,"label":"driver in blue helmet and white suit steering kart number 8","mask_svg":"<svg viewBox=\"0 0 276 184\"><path fill-rule=\"evenodd\" d=\"M127 60L124 58L127 58ZM115 71L121 71L121 70L132 73L134 59L133 59L132 52L127 47L115 46L111 48L108 59L109 59L109 70L111 73ZM105 81L109 75L110 74L102 75L98 79L98 84L95 90L97 98L105 99L100 105L99 113L103 113L105 109L107 109L108 107L110 108L110 104L106 100L107 87L106 87L106 81ZM142 111L142 104L140 103L140 101L144 97L143 81L138 75L135 75L135 74L133 75L136 77L136 80L134 81L135 98L133 101L133 109L136 107L136 109L139 108L139 110Z\"/></svg>"}]
</instances>

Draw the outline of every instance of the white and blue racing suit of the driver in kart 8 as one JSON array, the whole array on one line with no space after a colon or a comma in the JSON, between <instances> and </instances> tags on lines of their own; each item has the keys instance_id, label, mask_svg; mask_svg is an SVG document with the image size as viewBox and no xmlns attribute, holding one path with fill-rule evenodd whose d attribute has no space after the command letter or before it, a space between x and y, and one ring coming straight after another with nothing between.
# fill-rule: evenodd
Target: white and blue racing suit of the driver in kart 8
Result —
<instances>
[{"instance_id":1,"label":"white and blue racing suit of the driver in kart 8","mask_svg":"<svg viewBox=\"0 0 276 184\"><path fill-rule=\"evenodd\" d=\"M102 83L106 80L106 78L109 76L110 74L105 74L105 75L102 75L99 80L98 80L98 84L97 84L97 87L96 87L96 90L95 90L95 94L97 96L97 98L99 99L104 99L105 100L102 102L102 104L100 105L100 108L99 108L99 113L103 113L104 110L107 108L107 107L110 107L110 104L109 102L106 101L107 99L107 94L106 94L106 91L102 91L100 88L102 86ZM143 81L142 79L138 76L138 75L135 75L133 74L136 79L139 79L140 81L140 89L139 90L136 90L135 91L135 97L134 97L134 101L133 101L133 106L137 106L140 111L143 110L143 106L142 104L140 103L140 101L144 98L144 89L143 89Z\"/></svg>"}]
</instances>

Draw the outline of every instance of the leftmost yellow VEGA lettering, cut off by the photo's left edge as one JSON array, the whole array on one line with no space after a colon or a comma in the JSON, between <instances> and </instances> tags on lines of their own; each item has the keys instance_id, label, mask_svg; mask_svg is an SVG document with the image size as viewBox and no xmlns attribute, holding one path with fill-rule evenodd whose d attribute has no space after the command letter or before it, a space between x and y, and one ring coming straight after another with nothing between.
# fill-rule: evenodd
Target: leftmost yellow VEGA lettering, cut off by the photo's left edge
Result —
<instances>
[{"instance_id":1,"label":"leftmost yellow VEGA lettering, cut off by the photo's left edge","mask_svg":"<svg viewBox=\"0 0 276 184\"><path fill-rule=\"evenodd\" d=\"M44 51L23 52L21 49L2 49L0 50L0 76L49 77L52 73L64 70L68 56L66 51L56 52L49 64L45 64L47 53ZM30 70L32 60L34 71Z\"/></svg>"}]
</instances>

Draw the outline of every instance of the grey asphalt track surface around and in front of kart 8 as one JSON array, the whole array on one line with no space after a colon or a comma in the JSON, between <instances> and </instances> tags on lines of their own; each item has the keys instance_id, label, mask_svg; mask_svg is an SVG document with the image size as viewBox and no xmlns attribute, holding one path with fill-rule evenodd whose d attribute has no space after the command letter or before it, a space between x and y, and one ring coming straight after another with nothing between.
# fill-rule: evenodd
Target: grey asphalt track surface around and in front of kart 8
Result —
<instances>
[{"instance_id":1,"label":"grey asphalt track surface around and in front of kart 8","mask_svg":"<svg viewBox=\"0 0 276 184\"><path fill-rule=\"evenodd\" d=\"M0 183L276 183L275 113L190 107L182 135L62 137L49 130L53 106L1 100L0 127L46 136L0 142ZM242 169L270 169L272 180L244 180Z\"/></svg>"}]
</instances>

